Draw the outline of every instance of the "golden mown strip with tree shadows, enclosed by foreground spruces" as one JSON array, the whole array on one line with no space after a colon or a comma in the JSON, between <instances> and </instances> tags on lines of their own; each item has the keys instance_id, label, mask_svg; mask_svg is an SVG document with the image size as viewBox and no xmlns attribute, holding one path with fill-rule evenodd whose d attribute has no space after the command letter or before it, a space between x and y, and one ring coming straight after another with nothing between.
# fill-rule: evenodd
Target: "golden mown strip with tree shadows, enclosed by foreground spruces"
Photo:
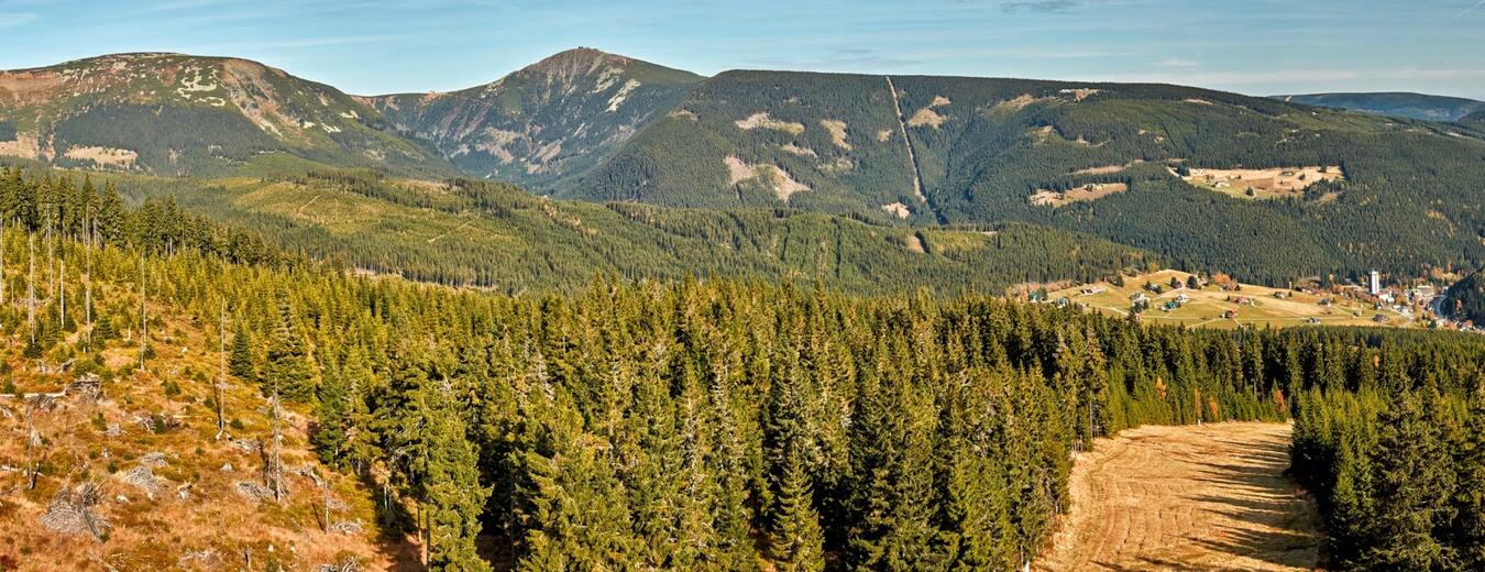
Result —
<instances>
[{"instance_id":1,"label":"golden mown strip with tree shadows, enclosed by foreground spruces","mask_svg":"<svg viewBox=\"0 0 1485 572\"><path fill-rule=\"evenodd\" d=\"M1143 426L1072 471L1072 510L1038 571L1307 571L1316 516L1283 475L1287 423Z\"/></svg>"}]
</instances>

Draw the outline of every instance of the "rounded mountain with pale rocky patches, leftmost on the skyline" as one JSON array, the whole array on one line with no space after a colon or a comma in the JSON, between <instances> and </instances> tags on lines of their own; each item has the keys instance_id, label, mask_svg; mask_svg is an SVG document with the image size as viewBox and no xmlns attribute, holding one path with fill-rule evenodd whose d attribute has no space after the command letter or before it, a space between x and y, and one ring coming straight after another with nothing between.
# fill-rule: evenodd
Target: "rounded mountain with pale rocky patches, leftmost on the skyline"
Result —
<instances>
[{"instance_id":1,"label":"rounded mountain with pale rocky patches, leftmost on the skyline","mask_svg":"<svg viewBox=\"0 0 1485 572\"><path fill-rule=\"evenodd\" d=\"M236 58L119 53L0 71L0 155L159 175L304 162L453 172L379 123L331 86Z\"/></svg>"}]
</instances>

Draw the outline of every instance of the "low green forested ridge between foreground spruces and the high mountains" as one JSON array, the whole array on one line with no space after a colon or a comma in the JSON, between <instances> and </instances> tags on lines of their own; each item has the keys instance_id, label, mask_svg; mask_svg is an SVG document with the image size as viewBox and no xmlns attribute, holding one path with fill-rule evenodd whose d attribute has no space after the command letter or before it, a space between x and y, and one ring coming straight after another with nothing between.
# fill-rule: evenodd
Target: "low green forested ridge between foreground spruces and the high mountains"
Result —
<instances>
[{"instance_id":1,"label":"low green forested ridge between foreground spruces and the high mountains","mask_svg":"<svg viewBox=\"0 0 1485 572\"><path fill-rule=\"evenodd\" d=\"M1161 261L1029 224L912 229L784 208L595 205L536 198L502 183L429 184L364 171L214 183L119 178L126 198L171 201L258 229L288 251L506 293L581 290L598 273L818 281L851 293L1004 293L1022 282L1099 279Z\"/></svg>"}]
</instances>

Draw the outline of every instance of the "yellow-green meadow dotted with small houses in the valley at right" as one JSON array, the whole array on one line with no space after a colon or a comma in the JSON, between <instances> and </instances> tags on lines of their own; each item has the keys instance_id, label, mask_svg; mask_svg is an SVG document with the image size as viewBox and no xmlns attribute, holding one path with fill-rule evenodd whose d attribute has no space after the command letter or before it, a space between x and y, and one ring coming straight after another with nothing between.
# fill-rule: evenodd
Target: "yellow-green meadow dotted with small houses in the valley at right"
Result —
<instances>
[{"instance_id":1,"label":"yellow-green meadow dotted with small houses in the valley at right","mask_svg":"<svg viewBox=\"0 0 1485 572\"><path fill-rule=\"evenodd\" d=\"M1414 324L1411 318L1390 308L1378 311L1363 302L1339 296L1307 294L1287 288L1268 288L1249 284L1243 284L1238 291L1227 291L1215 285L1207 285L1200 290L1169 288L1170 278L1176 278L1184 284L1189 276L1191 275L1187 272L1160 270L1140 276L1126 276L1123 287L1117 287L1109 282L1097 282L1059 290L1050 293L1048 299L1068 299L1072 303L1078 303L1099 312L1123 316L1129 315L1130 296L1143 291L1142 287L1145 284L1155 282L1167 288L1160 294L1146 291L1146 296L1149 296L1149 309L1140 313L1140 319L1154 324L1181 324L1216 328L1236 328L1238 325L1311 325L1311 319L1314 319L1314 325ZM1084 290L1087 288L1099 291L1084 294ZM1274 297L1276 293L1280 293L1285 297ZM1170 311L1164 309L1167 302L1173 302L1182 294L1189 299L1187 303ZM1332 300L1332 305L1322 305L1320 300L1325 299ZM1237 312L1237 316L1228 318L1228 311ZM1387 321L1377 322L1374 316L1378 313L1386 316Z\"/></svg>"}]
</instances>

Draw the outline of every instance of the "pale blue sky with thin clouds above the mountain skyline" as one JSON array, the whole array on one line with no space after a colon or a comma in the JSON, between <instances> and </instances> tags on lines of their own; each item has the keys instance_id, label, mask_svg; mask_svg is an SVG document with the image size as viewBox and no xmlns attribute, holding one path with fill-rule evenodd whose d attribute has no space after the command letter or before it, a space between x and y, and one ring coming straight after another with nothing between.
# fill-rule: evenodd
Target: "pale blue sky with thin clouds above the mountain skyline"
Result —
<instances>
[{"instance_id":1,"label":"pale blue sky with thin clouds above the mountain skyline","mask_svg":"<svg viewBox=\"0 0 1485 572\"><path fill-rule=\"evenodd\" d=\"M1485 100L1485 0L0 0L0 68L235 55L352 94L468 88L573 46L789 68Z\"/></svg>"}]
</instances>

